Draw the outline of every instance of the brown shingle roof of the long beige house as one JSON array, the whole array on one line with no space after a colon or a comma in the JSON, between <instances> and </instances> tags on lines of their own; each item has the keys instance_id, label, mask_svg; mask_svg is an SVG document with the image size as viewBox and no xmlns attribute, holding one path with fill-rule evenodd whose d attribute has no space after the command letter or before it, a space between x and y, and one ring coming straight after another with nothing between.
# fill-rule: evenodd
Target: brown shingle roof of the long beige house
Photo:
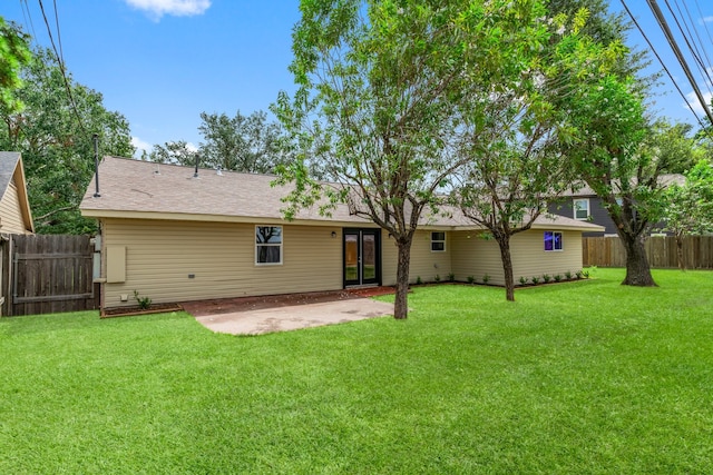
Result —
<instances>
[{"instance_id":1,"label":"brown shingle roof of the long beige house","mask_svg":"<svg viewBox=\"0 0 713 475\"><path fill-rule=\"evenodd\" d=\"M81 214L96 218L154 218L198 221L232 221L270 224L283 220L281 209L292 188L272 186L271 175L241 174L155 164L119 157L105 157L99 165L99 195L95 198L95 181L79 206ZM426 228L480 229L460 214L442 210L424 216ZM346 205L338 205L331 216L318 209L297 212L293 224L373 226L373 222L350 214ZM602 227L564 217L540 216L534 228L600 230Z\"/></svg>"}]
</instances>

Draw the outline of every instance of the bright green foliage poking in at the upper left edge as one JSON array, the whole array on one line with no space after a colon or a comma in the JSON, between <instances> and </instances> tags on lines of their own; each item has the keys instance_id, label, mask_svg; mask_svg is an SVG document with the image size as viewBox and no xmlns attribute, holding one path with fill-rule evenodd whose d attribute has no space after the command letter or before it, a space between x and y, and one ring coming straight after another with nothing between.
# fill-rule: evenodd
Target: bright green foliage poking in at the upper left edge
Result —
<instances>
[{"instance_id":1,"label":"bright green foliage poking in at the upper left edge","mask_svg":"<svg viewBox=\"0 0 713 475\"><path fill-rule=\"evenodd\" d=\"M22 109L12 91L22 86L21 68L30 61L30 37L0 17L0 108L10 113Z\"/></svg>"}]
</instances>

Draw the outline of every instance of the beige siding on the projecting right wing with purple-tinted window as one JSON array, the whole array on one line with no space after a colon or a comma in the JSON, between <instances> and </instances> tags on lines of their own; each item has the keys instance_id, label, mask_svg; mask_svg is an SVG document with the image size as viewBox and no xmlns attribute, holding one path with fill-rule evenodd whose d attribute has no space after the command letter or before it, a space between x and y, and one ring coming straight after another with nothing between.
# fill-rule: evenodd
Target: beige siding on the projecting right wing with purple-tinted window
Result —
<instances>
[{"instance_id":1,"label":"beige siding on the projecting right wing with purple-tinted window","mask_svg":"<svg viewBox=\"0 0 713 475\"><path fill-rule=\"evenodd\" d=\"M582 269L582 232L561 231L563 250L546 251L544 245L545 230L528 230L520 232L510 240L512 257L512 274L515 283L520 277L541 277L544 274L564 277L569 270L573 274ZM486 240L479 232L451 232L453 248L453 274L457 280L467 280L473 276L476 281L482 281L488 274L490 283L505 285L500 248L495 239Z\"/></svg>"}]
</instances>

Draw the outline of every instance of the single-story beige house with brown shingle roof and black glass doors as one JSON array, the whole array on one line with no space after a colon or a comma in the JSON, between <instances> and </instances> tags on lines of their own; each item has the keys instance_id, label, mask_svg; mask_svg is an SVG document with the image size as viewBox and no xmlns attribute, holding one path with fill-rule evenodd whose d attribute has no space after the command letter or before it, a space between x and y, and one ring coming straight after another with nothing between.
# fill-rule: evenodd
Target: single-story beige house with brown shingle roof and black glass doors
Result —
<instances>
[{"instance_id":1,"label":"single-story beige house with brown shingle roof and black glass doors","mask_svg":"<svg viewBox=\"0 0 713 475\"><path fill-rule=\"evenodd\" d=\"M99 197L89 185L80 209L99 220L102 308L155 303L394 285L397 247L388 232L339 205L285 221L289 189L273 176L198 170L105 157ZM456 215L456 214L453 214ZM582 231L600 227L540 218L512 239L517 276L582 268ZM411 250L410 281L502 284L498 246L456 217L429 217Z\"/></svg>"}]
</instances>

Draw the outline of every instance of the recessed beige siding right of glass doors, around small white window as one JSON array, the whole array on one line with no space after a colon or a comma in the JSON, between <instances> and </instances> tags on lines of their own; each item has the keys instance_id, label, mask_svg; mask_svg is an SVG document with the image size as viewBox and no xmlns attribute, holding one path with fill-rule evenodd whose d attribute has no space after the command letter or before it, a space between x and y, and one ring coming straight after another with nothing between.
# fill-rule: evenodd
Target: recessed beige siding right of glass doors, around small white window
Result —
<instances>
[{"instance_id":1,"label":"recessed beige siding right of glass doors, around small white window","mask_svg":"<svg viewBox=\"0 0 713 475\"><path fill-rule=\"evenodd\" d=\"M418 230L413 235L413 244L411 245L411 265L409 267L409 281L416 283L421 277L424 283L430 283L439 275L441 280L448 280L448 274L451 271L451 236L452 232L446 232L446 251L431 251L431 231ZM383 285L397 284L397 264L398 249L393 238L389 238L389 234L383 231L382 239L382 281Z\"/></svg>"}]
</instances>

